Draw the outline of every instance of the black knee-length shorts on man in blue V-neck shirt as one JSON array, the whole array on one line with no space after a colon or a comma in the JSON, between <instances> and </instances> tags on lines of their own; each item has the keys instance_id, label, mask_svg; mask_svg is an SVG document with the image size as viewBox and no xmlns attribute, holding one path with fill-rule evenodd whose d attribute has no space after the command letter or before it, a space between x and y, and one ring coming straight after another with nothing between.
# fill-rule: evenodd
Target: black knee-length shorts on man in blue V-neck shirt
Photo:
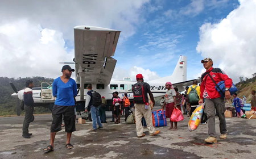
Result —
<instances>
[{"instance_id":1,"label":"black knee-length shorts on man in blue V-neck shirt","mask_svg":"<svg viewBox=\"0 0 256 159\"><path fill-rule=\"evenodd\" d=\"M54 105L51 132L61 131L62 115L64 115L65 132L76 131L75 106Z\"/></svg>"}]
</instances>

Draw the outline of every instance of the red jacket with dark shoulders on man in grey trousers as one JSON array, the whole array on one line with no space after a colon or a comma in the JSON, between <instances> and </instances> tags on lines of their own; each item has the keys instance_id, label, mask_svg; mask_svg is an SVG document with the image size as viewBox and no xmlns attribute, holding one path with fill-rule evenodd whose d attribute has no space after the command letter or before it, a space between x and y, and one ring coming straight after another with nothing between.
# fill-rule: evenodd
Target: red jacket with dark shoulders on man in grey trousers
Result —
<instances>
[{"instance_id":1,"label":"red jacket with dark shoulders on man in grey trousers","mask_svg":"<svg viewBox=\"0 0 256 159\"><path fill-rule=\"evenodd\" d=\"M220 81L225 81L225 87L231 87L232 86L232 79L226 75L224 71L222 71L219 68L210 68L201 76L201 87L200 87L200 99L208 98L208 99L214 99L221 97L220 93L215 88L215 83L210 79L210 76L212 76L213 80L218 83Z\"/></svg>"}]
</instances>

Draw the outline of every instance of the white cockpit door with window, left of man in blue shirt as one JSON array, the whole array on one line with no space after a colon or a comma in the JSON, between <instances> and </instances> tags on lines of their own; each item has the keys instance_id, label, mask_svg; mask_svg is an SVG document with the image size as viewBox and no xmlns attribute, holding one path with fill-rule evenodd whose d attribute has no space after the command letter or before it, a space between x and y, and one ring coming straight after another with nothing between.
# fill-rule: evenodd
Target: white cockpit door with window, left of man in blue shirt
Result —
<instances>
[{"instance_id":1,"label":"white cockpit door with window, left of man in blue shirt","mask_svg":"<svg viewBox=\"0 0 256 159\"><path fill-rule=\"evenodd\" d=\"M41 95L42 101L54 101L55 97L52 95L52 86L47 82L41 83Z\"/></svg>"}]
</instances>

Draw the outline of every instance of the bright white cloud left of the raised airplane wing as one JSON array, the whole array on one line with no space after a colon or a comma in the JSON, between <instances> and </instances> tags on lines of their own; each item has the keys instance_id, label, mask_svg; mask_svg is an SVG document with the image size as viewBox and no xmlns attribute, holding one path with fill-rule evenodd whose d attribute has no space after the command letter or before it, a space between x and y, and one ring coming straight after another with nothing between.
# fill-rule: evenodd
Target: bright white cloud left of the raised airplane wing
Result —
<instances>
[{"instance_id":1,"label":"bright white cloud left of the raised airplane wing","mask_svg":"<svg viewBox=\"0 0 256 159\"><path fill-rule=\"evenodd\" d=\"M18 27L17 27L18 26ZM57 77L59 62L71 61L65 51L63 34L40 27L28 20L0 26L0 71L6 77Z\"/></svg>"}]
</instances>

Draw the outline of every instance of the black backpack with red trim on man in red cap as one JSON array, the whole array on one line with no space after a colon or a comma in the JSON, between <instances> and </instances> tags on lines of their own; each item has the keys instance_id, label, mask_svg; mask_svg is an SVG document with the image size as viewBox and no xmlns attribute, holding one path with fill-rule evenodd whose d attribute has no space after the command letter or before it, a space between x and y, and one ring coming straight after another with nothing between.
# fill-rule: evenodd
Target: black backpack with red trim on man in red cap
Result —
<instances>
[{"instance_id":1,"label":"black backpack with red trim on man in red cap","mask_svg":"<svg viewBox=\"0 0 256 159\"><path fill-rule=\"evenodd\" d=\"M133 97L134 97L134 103L146 103L146 98L144 95L144 82L135 83L133 85Z\"/></svg>"}]
</instances>

